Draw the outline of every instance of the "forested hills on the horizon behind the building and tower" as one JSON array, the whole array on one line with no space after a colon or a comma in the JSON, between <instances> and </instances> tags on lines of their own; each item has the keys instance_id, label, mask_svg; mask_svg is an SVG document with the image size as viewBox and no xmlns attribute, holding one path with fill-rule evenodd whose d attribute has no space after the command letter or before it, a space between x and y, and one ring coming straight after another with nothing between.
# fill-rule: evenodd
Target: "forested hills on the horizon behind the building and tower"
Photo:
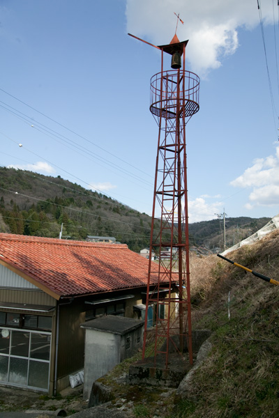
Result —
<instances>
[{"instance_id":1,"label":"forested hills on the horizon behind the building and tower","mask_svg":"<svg viewBox=\"0 0 279 418\"><path fill-rule=\"evenodd\" d=\"M268 221L227 218L227 245L246 238ZM60 176L0 167L1 232L58 238L62 223L64 239L113 236L133 251L149 247L148 215ZM223 242L223 224L218 219L190 224L189 233L191 246L213 249Z\"/></svg>"}]
</instances>

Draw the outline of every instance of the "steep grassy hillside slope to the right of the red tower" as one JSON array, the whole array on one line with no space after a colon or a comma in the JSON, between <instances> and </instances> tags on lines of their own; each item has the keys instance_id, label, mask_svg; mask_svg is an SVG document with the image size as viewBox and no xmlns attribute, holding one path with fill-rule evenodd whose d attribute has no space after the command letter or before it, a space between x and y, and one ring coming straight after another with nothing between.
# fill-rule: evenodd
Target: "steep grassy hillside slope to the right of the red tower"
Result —
<instances>
[{"instance_id":1,"label":"steep grassy hillside slope to the right of the red tower","mask_svg":"<svg viewBox=\"0 0 279 418\"><path fill-rule=\"evenodd\" d=\"M278 279L278 250L276 230L227 256ZM217 256L191 264L193 328L212 330L213 348L173 416L279 417L279 286Z\"/></svg>"}]
</instances>

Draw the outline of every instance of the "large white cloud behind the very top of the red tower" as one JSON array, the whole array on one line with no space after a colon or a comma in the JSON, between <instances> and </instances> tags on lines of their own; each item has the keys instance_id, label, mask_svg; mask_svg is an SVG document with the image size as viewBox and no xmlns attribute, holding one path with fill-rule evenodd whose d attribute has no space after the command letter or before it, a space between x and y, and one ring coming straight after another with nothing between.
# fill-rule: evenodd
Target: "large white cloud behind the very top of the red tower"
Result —
<instances>
[{"instance_id":1,"label":"large white cloud behind the very top of the red tower","mask_svg":"<svg viewBox=\"0 0 279 418\"><path fill-rule=\"evenodd\" d=\"M272 2L262 2L262 17L273 22ZM172 40L176 28L175 13L184 24L177 29L179 40L189 40L187 59L190 69L200 76L222 65L224 56L234 54L238 30L259 24L255 0L126 0L128 32L155 45Z\"/></svg>"}]
</instances>

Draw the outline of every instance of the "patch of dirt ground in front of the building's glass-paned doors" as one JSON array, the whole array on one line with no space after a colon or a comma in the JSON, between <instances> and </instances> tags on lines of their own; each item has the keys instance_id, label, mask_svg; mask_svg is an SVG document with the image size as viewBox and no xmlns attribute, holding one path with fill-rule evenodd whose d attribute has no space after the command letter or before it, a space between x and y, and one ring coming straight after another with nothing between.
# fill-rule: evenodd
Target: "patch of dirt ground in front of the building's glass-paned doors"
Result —
<instances>
[{"instance_id":1,"label":"patch of dirt ground in front of the building's glass-paned doors","mask_svg":"<svg viewBox=\"0 0 279 418\"><path fill-rule=\"evenodd\" d=\"M0 387L0 413L23 412L26 410L65 410L67 415L73 415L87 408L87 402L82 398L83 386L63 390L58 396L36 394L27 390Z\"/></svg>"}]
</instances>

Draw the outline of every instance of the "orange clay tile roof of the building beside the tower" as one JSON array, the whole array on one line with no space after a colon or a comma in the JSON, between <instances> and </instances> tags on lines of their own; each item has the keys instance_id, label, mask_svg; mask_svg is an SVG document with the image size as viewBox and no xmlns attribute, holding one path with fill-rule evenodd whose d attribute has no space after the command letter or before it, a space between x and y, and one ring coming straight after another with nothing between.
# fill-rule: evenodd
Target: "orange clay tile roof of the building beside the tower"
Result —
<instances>
[{"instance_id":1,"label":"orange clay tile roof of the building beside the tower","mask_svg":"<svg viewBox=\"0 0 279 418\"><path fill-rule=\"evenodd\" d=\"M0 263L27 274L33 284L58 298L146 286L149 265L125 244L8 233L0 233ZM153 263L152 270L157 268Z\"/></svg>"}]
</instances>

